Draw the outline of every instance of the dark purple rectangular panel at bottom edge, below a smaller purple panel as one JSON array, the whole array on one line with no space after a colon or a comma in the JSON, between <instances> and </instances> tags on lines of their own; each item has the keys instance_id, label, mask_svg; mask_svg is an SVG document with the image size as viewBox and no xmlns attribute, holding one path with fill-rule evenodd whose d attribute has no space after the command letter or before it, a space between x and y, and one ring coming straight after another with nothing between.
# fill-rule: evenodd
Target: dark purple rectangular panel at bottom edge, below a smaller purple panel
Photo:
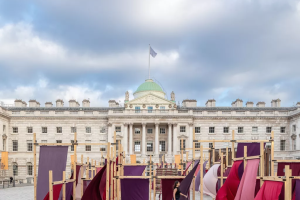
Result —
<instances>
[{"instance_id":1,"label":"dark purple rectangular panel at bottom edge, below a smaller purple panel","mask_svg":"<svg viewBox=\"0 0 300 200\"><path fill-rule=\"evenodd\" d=\"M149 179L121 179L122 200L149 200Z\"/></svg>"}]
</instances>

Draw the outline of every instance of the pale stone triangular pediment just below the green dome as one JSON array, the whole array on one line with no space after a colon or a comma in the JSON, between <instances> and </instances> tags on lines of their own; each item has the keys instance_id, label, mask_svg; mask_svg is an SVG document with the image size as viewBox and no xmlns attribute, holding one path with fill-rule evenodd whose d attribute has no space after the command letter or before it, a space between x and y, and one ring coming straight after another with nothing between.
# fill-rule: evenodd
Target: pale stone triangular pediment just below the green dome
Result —
<instances>
[{"instance_id":1,"label":"pale stone triangular pediment just below the green dome","mask_svg":"<svg viewBox=\"0 0 300 200\"><path fill-rule=\"evenodd\" d=\"M155 94L152 94L152 93L149 93L149 94L146 94L144 96L141 96L137 99L133 99L131 101L128 101L126 104L147 104L147 105L155 105L155 104L166 104L166 105L169 105L169 104L174 104L174 102L172 101L169 101L167 99L164 99L160 96L157 96Z\"/></svg>"}]
</instances>

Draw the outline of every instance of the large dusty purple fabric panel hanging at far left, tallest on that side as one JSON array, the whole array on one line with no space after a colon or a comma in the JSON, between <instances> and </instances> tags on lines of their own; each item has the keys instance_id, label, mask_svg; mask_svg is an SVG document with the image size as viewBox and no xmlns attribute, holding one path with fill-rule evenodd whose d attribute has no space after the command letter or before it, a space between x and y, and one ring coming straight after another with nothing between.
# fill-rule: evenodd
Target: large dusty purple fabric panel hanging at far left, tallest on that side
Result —
<instances>
[{"instance_id":1,"label":"large dusty purple fabric panel hanging at far left, tallest on that side","mask_svg":"<svg viewBox=\"0 0 300 200\"><path fill-rule=\"evenodd\" d=\"M61 181L66 170L68 156L67 146L41 146L37 178L37 200L42 200L49 192L49 170L52 170L53 181Z\"/></svg>"}]
</instances>

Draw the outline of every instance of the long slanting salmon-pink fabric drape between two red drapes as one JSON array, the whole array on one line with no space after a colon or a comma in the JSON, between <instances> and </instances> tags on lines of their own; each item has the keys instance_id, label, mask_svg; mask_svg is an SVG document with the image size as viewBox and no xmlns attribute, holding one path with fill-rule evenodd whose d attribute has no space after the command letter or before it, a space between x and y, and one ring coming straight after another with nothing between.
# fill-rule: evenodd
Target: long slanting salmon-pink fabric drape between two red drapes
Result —
<instances>
[{"instance_id":1,"label":"long slanting salmon-pink fabric drape between two red drapes","mask_svg":"<svg viewBox=\"0 0 300 200\"><path fill-rule=\"evenodd\" d=\"M253 200L259 159L248 160L234 200Z\"/></svg>"}]
</instances>

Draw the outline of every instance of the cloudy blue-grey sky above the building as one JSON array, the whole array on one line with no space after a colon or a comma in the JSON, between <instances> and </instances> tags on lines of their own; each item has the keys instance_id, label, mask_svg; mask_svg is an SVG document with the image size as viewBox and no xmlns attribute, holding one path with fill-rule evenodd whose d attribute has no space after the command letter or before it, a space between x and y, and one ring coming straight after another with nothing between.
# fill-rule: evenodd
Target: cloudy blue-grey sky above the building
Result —
<instances>
[{"instance_id":1,"label":"cloudy blue-grey sky above the building","mask_svg":"<svg viewBox=\"0 0 300 200\"><path fill-rule=\"evenodd\" d=\"M148 75L176 101L300 101L299 0L0 0L0 101L123 101Z\"/></svg>"}]
</instances>

